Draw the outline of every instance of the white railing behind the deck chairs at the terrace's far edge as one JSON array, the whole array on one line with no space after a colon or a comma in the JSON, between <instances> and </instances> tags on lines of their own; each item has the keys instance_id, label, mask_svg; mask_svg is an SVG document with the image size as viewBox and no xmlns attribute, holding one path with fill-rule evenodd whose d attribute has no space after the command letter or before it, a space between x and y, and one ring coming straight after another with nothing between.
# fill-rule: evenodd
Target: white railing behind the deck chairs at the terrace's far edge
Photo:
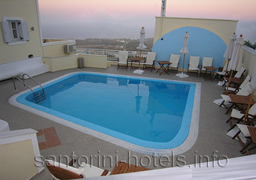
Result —
<instances>
[{"instance_id":1,"label":"white railing behind the deck chairs at the terrace's far edge","mask_svg":"<svg viewBox=\"0 0 256 180\"><path fill-rule=\"evenodd\" d=\"M87 49L87 48L77 48L77 53L83 54L93 54L93 55L107 55L108 61L117 61L118 60L118 50L110 49ZM128 51L128 58L139 58L138 51ZM142 60L145 61L148 52L142 52Z\"/></svg>"}]
</instances>

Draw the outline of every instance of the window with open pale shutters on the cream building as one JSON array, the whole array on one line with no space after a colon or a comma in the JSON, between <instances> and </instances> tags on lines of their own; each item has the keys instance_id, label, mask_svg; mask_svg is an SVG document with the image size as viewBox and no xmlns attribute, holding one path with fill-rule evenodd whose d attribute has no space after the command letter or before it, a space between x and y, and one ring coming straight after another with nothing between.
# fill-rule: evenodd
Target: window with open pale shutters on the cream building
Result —
<instances>
[{"instance_id":1,"label":"window with open pale shutters on the cream building","mask_svg":"<svg viewBox=\"0 0 256 180\"><path fill-rule=\"evenodd\" d=\"M28 24L21 18L4 17L2 31L5 37L5 43L9 45L29 41Z\"/></svg>"}]
</instances>

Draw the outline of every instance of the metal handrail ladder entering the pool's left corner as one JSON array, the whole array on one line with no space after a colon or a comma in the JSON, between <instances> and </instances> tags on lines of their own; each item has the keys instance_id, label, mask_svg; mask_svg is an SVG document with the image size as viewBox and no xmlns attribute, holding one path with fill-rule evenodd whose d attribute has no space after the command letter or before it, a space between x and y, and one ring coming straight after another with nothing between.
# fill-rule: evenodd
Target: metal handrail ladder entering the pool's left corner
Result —
<instances>
[{"instance_id":1,"label":"metal handrail ladder entering the pool's left corner","mask_svg":"<svg viewBox=\"0 0 256 180\"><path fill-rule=\"evenodd\" d=\"M30 80L34 81L38 86L40 86L41 91L38 91L37 93L35 93L34 90L29 85L27 85L25 83L25 79L24 79L25 76L29 77ZM44 99L46 99L46 96L44 93L44 87L41 86L41 84L39 84L34 78L30 77L29 74L23 74L22 80L20 79L20 77L13 77L14 90L17 91L16 85L14 82L15 79L19 80L21 83L23 83L24 87L26 86L28 89L30 89L33 92L36 104L38 104L40 101L43 101Z\"/></svg>"}]
</instances>

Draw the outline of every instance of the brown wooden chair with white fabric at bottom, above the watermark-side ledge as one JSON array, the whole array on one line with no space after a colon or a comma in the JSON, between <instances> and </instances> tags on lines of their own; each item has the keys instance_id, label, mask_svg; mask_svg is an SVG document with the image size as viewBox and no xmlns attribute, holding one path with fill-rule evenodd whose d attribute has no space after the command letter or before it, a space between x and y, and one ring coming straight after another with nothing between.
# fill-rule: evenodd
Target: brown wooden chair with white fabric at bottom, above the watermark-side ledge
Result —
<instances>
[{"instance_id":1,"label":"brown wooden chair with white fabric at bottom, above the watermark-side ledge","mask_svg":"<svg viewBox=\"0 0 256 180\"><path fill-rule=\"evenodd\" d=\"M46 160L47 169L50 171L50 175L53 179L75 179L75 178L90 178L102 175L108 175L111 172L108 170L100 169L96 166L90 166L82 163L81 167L75 168L72 163L69 165L58 163L53 160Z\"/></svg>"}]
</instances>

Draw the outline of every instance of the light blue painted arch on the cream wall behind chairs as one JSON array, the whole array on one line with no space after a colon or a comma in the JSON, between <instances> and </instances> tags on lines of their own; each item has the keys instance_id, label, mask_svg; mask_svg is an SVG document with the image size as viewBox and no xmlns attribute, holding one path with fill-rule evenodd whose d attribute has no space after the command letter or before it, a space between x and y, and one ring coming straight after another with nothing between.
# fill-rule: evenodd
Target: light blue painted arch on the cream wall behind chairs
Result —
<instances>
[{"instance_id":1,"label":"light blue painted arch on the cream wall behind chairs","mask_svg":"<svg viewBox=\"0 0 256 180\"><path fill-rule=\"evenodd\" d=\"M171 54L178 54L181 55L178 67L182 68L183 54L179 51L183 46L186 31L189 34L189 40L187 46L188 54L185 56L184 68L187 69L190 55L200 56L200 68L203 57L212 57L212 66L216 68L222 67L224 62L223 55L227 49L224 40L212 31L192 26L176 28L160 37L152 48L153 52L157 52L156 61L169 61Z\"/></svg>"}]
</instances>

